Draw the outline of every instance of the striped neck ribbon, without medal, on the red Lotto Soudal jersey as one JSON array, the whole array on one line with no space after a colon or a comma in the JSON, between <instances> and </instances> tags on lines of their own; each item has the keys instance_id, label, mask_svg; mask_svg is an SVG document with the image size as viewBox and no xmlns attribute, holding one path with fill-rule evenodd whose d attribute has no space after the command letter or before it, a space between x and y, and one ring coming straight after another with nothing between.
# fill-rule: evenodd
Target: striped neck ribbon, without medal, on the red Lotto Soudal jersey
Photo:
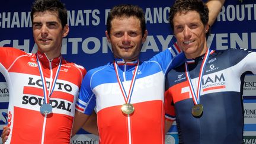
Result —
<instances>
[{"instance_id":1,"label":"striped neck ribbon, without medal, on the red Lotto Soudal jersey","mask_svg":"<svg viewBox=\"0 0 256 144\"><path fill-rule=\"evenodd\" d=\"M52 95L53 90L54 90L55 85L56 85L57 76L59 75L61 63L62 63L62 56L60 56L60 62L59 62L58 68L56 70L55 77L53 78L53 82L50 85L49 92L47 93L46 79L45 79L45 77L43 75L43 69L41 68L41 63L40 63L40 60L39 60L39 57L38 57L38 53L37 53L37 65L39 65L39 72L40 72L41 81L42 81L42 85L43 85L44 104L49 103L50 96Z\"/></svg>"}]
</instances>

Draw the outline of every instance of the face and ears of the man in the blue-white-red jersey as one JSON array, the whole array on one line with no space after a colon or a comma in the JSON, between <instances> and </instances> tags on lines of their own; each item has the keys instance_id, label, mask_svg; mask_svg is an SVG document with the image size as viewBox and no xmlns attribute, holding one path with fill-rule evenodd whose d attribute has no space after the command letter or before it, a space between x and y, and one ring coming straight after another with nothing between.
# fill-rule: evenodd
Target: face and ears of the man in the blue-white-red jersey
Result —
<instances>
[{"instance_id":1,"label":"face and ears of the man in the blue-white-red jersey","mask_svg":"<svg viewBox=\"0 0 256 144\"><path fill-rule=\"evenodd\" d=\"M111 43L114 57L129 62L139 57L148 32L145 31L142 37L140 21L136 17L116 17L111 21L110 34L107 31L105 34Z\"/></svg>"}]
</instances>

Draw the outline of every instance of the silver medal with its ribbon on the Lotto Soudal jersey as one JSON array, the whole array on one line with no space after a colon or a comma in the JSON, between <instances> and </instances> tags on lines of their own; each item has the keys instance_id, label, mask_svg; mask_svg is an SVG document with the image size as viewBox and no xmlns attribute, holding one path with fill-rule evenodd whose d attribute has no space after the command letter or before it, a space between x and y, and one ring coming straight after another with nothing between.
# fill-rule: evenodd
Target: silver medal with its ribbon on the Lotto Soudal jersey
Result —
<instances>
[{"instance_id":1,"label":"silver medal with its ribbon on the Lotto Soudal jersey","mask_svg":"<svg viewBox=\"0 0 256 144\"><path fill-rule=\"evenodd\" d=\"M39 56L38 56L38 53L37 53L37 64L39 66L41 81L43 83L42 85L43 85L43 95L44 95L44 104L41 105L41 107L40 107L40 113L43 114L44 116L46 116L47 114L52 113L53 108L52 108L52 105L49 104L49 100L50 100L50 96L52 95L52 93L54 91L54 88L55 88L55 85L56 85L57 76L59 75L59 70L60 70L60 67L61 67L61 63L62 63L62 56L60 56L60 62L59 62L58 68L56 70L55 77L53 78L52 84L50 85L51 87L49 89L49 92L47 92L46 79L44 77L43 69L41 68L41 63L40 63Z\"/></svg>"}]
</instances>

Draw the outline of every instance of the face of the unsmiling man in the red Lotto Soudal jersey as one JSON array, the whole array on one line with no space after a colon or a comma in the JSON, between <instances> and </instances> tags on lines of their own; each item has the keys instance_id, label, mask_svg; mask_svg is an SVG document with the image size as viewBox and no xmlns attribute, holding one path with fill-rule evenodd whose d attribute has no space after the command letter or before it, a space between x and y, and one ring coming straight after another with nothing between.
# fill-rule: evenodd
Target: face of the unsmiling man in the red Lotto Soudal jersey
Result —
<instances>
[{"instance_id":1,"label":"face of the unsmiling man in the red Lotto Soudal jersey","mask_svg":"<svg viewBox=\"0 0 256 144\"><path fill-rule=\"evenodd\" d=\"M35 12L33 36L38 49L43 53L59 53L62 38L68 34L68 25L62 28L57 12Z\"/></svg>"}]
</instances>

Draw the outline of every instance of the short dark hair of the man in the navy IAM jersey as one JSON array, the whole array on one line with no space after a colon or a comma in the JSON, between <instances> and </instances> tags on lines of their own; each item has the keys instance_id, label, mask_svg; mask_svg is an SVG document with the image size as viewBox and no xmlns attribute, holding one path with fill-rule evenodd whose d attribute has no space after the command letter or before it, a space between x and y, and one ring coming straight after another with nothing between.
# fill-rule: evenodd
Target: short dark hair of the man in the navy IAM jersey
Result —
<instances>
[{"instance_id":1,"label":"short dark hair of the man in the navy IAM jersey","mask_svg":"<svg viewBox=\"0 0 256 144\"><path fill-rule=\"evenodd\" d=\"M209 21L209 9L206 4L201 0L176 0L169 11L169 23L172 30L174 29L173 18L178 12L186 13L188 11L197 11L200 19L204 25ZM206 36L209 36L209 31Z\"/></svg>"}]
</instances>

